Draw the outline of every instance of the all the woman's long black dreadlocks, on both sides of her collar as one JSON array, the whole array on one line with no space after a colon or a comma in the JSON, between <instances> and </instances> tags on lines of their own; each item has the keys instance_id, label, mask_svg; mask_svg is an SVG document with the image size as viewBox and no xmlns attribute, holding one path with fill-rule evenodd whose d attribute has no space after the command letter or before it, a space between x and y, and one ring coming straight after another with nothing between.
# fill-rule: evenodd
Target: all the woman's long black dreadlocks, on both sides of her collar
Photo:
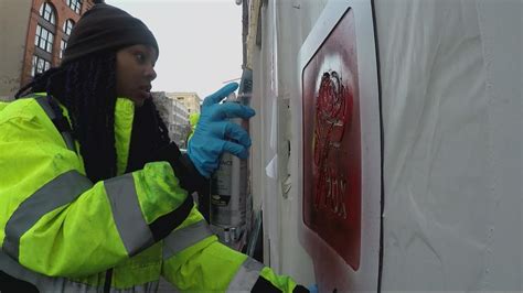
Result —
<instances>
[{"instance_id":1,"label":"all the woman's long black dreadlocks, on both sides of her collar","mask_svg":"<svg viewBox=\"0 0 523 293\"><path fill-rule=\"evenodd\" d=\"M116 53L99 53L51 68L22 87L17 98L45 91L70 112L87 177L98 182L116 175ZM169 131L152 100L135 111L126 172L158 160L170 143Z\"/></svg>"}]
</instances>

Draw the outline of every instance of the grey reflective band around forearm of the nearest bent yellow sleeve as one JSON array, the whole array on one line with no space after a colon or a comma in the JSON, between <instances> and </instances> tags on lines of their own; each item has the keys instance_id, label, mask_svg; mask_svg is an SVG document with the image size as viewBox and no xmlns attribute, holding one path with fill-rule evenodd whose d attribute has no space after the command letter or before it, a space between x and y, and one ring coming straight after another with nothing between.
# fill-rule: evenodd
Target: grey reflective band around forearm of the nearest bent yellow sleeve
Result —
<instances>
[{"instance_id":1,"label":"grey reflective band around forearm of the nearest bent yellow sleeve","mask_svg":"<svg viewBox=\"0 0 523 293\"><path fill-rule=\"evenodd\" d=\"M107 180L104 185L127 253L132 257L152 246L154 238L141 213L132 174Z\"/></svg>"}]
</instances>

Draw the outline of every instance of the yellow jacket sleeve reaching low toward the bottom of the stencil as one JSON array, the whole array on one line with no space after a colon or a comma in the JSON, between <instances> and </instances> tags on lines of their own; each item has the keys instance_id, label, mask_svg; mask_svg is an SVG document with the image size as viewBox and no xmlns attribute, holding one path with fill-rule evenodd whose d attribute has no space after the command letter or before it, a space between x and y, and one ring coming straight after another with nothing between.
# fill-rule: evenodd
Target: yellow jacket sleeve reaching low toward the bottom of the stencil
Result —
<instances>
[{"instance_id":1,"label":"yellow jacket sleeve reaching low toward the bottom of the stencil","mask_svg":"<svg viewBox=\"0 0 523 293\"><path fill-rule=\"evenodd\" d=\"M181 292L308 292L221 242L203 216L191 215L163 239L162 275Z\"/></svg>"}]
</instances>

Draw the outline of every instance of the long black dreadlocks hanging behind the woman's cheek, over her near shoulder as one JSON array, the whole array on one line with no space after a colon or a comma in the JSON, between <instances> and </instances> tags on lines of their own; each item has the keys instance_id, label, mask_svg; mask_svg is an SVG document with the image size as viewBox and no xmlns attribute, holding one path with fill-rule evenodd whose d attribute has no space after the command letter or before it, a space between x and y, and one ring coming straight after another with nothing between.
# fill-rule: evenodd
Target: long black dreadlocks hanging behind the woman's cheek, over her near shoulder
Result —
<instances>
[{"instance_id":1,"label":"long black dreadlocks hanging behind the woman's cheek, over her near shoulder","mask_svg":"<svg viewBox=\"0 0 523 293\"><path fill-rule=\"evenodd\" d=\"M67 108L87 177L98 182L115 176L116 53L92 54L51 68L15 97L41 91Z\"/></svg>"}]
</instances>

